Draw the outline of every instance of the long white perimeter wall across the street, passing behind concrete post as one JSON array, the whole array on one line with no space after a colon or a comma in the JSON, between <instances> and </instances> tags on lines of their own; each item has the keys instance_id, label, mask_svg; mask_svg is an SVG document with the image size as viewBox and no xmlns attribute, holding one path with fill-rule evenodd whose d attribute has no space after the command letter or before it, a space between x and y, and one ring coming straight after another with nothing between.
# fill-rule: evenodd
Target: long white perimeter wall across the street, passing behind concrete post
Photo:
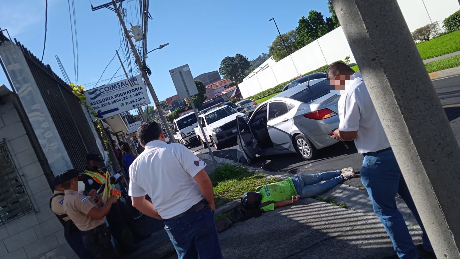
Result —
<instances>
[{"instance_id":1,"label":"long white perimeter wall across the street, passing behind concrete post","mask_svg":"<svg viewBox=\"0 0 460 259\"><path fill-rule=\"evenodd\" d=\"M458 0L397 0L397 2L410 31L431 22L442 23L444 18L460 8ZM339 27L278 62L268 59L244 78L238 87L243 97L247 98L323 65L345 59L346 56L350 56L351 63L355 62L342 27Z\"/></svg>"}]
</instances>

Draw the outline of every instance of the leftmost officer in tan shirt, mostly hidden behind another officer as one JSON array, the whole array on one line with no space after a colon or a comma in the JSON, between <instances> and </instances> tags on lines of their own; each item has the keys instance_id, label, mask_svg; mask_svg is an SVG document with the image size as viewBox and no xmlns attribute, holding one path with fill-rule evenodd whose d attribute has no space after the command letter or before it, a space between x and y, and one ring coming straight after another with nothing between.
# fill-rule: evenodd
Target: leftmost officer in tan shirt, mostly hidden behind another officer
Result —
<instances>
[{"instance_id":1,"label":"leftmost officer in tan shirt, mostly hidden behind another officer","mask_svg":"<svg viewBox=\"0 0 460 259\"><path fill-rule=\"evenodd\" d=\"M61 175L54 177L54 193L50 199L50 209L56 214L57 219L64 227L64 238L70 248L74 250L81 259L93 259L92 254L83 247L81 241L81 231L75 226L74 222L65 214L64 207L64 189L62 188Z\"/></svg>"}]
</instances>

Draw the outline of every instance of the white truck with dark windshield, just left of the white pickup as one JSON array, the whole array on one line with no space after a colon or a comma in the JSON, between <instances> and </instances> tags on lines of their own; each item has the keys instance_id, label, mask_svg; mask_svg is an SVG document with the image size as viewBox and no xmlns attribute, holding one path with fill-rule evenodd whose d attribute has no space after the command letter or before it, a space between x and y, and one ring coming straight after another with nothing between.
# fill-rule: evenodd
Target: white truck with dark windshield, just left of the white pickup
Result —
<instances>
[{"instance_id":1,"label":"white truck with dark windshield, just left of the white pickup","mask_svg":"<svg viewBox=\"0 0 460 259\"><path fill-rule=\"evenodd\" d=\"M193 128L198 126L195 112L187 113L174 120L174 138L187 147L196 140Z\"/></svg>"}]
</instances>

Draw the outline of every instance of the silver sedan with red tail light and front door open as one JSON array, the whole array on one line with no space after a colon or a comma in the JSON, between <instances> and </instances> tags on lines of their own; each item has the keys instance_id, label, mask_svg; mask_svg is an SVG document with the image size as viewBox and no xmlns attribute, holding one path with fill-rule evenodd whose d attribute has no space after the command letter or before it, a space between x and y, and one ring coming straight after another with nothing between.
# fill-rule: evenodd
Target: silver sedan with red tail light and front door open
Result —
<instances>
[{"instance_id":1,"label":"silver sedan with red tail light and front door open","mask_svg":"<svg viewBox=\"0 0 460 259\"><path fill-rule=\"evenodd\" d=\"M247 122L237 117L238 161L281 153L311 160L337 143L331 135L339 127L339 95L329 89L326 79L311 80L263 102Z\"/></svg>"}]
</instances>

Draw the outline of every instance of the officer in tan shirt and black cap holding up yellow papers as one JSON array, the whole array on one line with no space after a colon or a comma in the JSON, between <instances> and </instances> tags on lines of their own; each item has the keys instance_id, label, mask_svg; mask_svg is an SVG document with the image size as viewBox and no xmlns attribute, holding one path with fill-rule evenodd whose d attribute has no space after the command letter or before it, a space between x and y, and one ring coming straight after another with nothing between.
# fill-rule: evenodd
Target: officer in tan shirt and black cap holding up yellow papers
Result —
<instances>
[{"instance_id":1,"label":"officer in tan shirt and black cap holding up yellow papers","mask_svg":"<svg viewBox=\"0 0 460 259\"><path fill-rule=\"evenodd\" d=\"M110 231L105 226L104 217L117 202L115 195L110 196L105 204L96 205L90 196L81 193L83 177L75 169L67 170L61 176L64 189L63 208L75 226L81 230L83 246L99 259L119 258L110 242ZM93 190L92 193L95 191Z\"/></svg>"}]
</instances>

